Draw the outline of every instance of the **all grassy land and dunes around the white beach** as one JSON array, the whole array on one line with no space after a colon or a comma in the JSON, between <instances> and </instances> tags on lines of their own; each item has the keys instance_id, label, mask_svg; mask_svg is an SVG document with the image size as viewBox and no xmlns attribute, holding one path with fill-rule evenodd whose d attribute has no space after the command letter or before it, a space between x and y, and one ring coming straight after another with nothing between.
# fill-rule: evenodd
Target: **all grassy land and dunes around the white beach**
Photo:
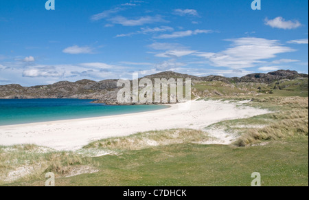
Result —
<instances>
[{"instance_id":1,"label":"all grassy land and dunes around the white beach","mask_svg":"<svg viewBox=\"0 0 309 200\"><path fill-rule=\"evenodd\" d=\"M251 100L247 105L273 111L202 131L148 131L92 142L77 152L0 146L0 185L44 186L45 173L52 171L56 186L251 186L253 172L261 174L262 186L308 186L308 79L300 82L229 91L222 82L195 85L196 93L205 88L217 93L201 100ZM238 140L201 144L209 139L209 128L232 131ZM19 178L16 171L29 175ZM5 181L9 173L16 179Z\"/></svg>"}]
</instances>

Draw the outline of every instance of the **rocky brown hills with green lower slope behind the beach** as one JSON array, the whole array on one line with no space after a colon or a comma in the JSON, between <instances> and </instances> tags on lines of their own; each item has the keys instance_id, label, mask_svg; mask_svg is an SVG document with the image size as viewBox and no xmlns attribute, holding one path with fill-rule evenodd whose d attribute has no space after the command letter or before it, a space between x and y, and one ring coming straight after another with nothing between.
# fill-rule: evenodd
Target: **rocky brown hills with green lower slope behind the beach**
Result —
<instances>
[{"instance_id":1,"label":"rocky brown hills with green lower slope behind the beach","mask_svg":"<svg viewBox=\"0 0 309 200\"><path fill-rule=\"evenodd\" d=\"M308 75L297 71L279 70L268 74L249 74L241 78L223 76L197 77L165 71L144 78L191 78L192 96L257 96L263 93L280 93L289 96L308 96ZM80 98L96 99L106 104L117 104L119 88L117 80L78 80L77 82L61 81L52 85L22 87L21 85L1 85L0 98Z\"/></svg>"}]
</instances>

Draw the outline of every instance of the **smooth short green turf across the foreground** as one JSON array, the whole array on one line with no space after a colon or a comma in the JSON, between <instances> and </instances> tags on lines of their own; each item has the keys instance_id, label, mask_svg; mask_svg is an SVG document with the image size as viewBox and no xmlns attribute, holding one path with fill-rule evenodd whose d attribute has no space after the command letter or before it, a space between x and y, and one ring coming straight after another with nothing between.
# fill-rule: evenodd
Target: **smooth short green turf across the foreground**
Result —
<instances>
[{"instance_id":1,"label":"smooth short green turf across the foreground","mask_svg":"<svg viewBox=\"0 0 309 200\"><path fill-rule=\"evenodd\" d=\"M93 159L100 172L58 178L56 186L251 186L253 172L262 186L308 186L308 137L244 148L173 144Z\"/></svg>"}]
</instances>

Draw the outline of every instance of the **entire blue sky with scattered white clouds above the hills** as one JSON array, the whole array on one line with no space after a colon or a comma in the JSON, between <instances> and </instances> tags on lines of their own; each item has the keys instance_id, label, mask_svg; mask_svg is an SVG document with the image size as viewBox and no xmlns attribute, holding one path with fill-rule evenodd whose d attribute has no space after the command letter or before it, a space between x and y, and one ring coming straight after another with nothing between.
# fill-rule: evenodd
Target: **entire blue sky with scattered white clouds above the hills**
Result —
<instances>
[{"instance_id":1,"label":"entire blue sky with scattered white clouds above the hills","mask_svg":"<svg viewBox=\"0 0 309 200\"><path fill-rule=\"evenodd\" d=\"M308 74L308 1L0 1L0 85L161 71Z\"/></svg>"}]
</instances>

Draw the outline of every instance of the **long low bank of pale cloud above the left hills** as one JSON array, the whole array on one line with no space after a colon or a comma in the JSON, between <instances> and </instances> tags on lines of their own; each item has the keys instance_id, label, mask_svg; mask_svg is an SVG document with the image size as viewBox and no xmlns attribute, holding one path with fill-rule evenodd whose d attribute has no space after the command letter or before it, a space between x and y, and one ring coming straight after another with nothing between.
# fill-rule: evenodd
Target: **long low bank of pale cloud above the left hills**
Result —
<instances>
[{"instance_id":1,"label":"long low bank of pale cloud above the left hills","mask_svg":"<svg viewBox=\"0 0 309 200\"><path fill-rule=\"evenodd\" d=\"M80 63L77 65L53 66L32 65L25 68L25 63L20 67L16 67L16 63L19 65L21 62L5 63L5 66L1 65L0 79L12 80L10 83L32 86L52 84L60 80L75 82L84 78L95 81L132 78L132 74L128 72L130 68L121 65L109 65L111 69L105 63Z\"/></svg>"}]
</instances>

